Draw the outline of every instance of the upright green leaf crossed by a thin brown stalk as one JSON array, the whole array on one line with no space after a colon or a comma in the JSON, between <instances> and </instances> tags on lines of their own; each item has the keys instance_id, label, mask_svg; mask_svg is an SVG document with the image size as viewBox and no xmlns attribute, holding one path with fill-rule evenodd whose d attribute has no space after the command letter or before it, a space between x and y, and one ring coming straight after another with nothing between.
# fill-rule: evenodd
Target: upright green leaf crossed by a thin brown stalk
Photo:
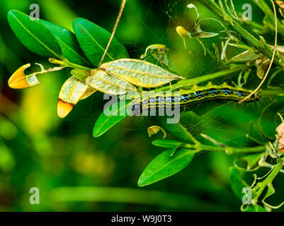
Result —
<instances>
[{"instance_id":1,"label":"upright green leaf crossed by a thin brown stalk","mask_svg":"<svg viewBox=\"0 0 284 226\"><path fill-rule=\"evenodd\" d=\"M93 65L98 66L110 40L110 32L83 18L76 18L73 28L84 54ZM125 47L114 37L103 62L128 57Z\"/></svg>"}]
</instances>

